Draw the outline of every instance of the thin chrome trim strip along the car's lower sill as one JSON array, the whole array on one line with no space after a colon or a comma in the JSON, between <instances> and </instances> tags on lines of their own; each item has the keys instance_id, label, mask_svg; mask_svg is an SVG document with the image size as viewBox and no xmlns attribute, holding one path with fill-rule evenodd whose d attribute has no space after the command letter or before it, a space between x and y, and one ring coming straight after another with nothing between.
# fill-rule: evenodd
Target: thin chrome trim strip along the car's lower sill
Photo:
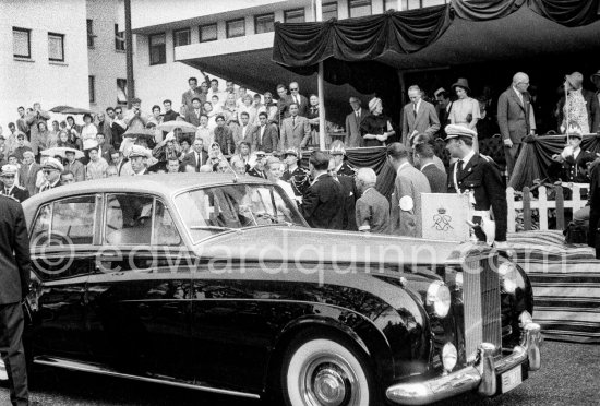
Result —
<instances>
[{"instance_id":1,"label":"thin chrome trim strip along the car's lower sill","mask_svg":"<svg viewBox=\"0 0 600 406\"><path fill-rule=\"evenodd\" d=\"M149 377L140 377L140 375L131 375L128 373L121 373L108 368L103 368L94 365L87 365L83 362L72 361L68 359L61 359L61 358L48 358L48 357L40 357L34 359L34 363L41 365L41 366L48 366L48 367L56 367L56 368L64 368L73 371L82 371L82 372L91 372L91 373L98 373L107 377L115 377L115 378L125 378L131 379L135 381L141 382L148 382L148 383L159 383L159 384L166 384L170 386L177 386L177 387L184 387L184 389L192 389L196 391L204 391L204 392L211 392L211 393L217 393L221 395L231 395L231 396L239 396L239 397L247 397L247 398L253 398L253 399L260 399L261 396L254 393L245 393L245 392L238 392L238 391L229 391L218 387L212 387L207 385L200 385L200 384L192 384L192 383L183 383L183 382L175 382L175 381L167 381L161 380L157 378L149 378Z\"/></svg>"}]
</instances>

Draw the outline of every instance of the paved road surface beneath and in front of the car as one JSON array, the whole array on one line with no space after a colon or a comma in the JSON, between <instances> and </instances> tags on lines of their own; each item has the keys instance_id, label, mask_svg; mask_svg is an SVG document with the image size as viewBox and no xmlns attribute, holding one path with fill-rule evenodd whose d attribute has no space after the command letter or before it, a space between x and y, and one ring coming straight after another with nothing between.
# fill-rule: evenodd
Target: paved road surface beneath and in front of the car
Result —
<instances>
[{"instance_id":1,"label":"paved road surface beneath and in front of the car","mask_svg":"<svg viewBox=\"0 0 600 406\"><path fill-rule=\"evenodd\" d=\"M508 394L493 399L460 396L435 406L592 406L600 404L600 346L545 342L542 370ZM46 370L33 398L45 406L257 406L259 402L207 395L85 373ZM10 405L0 389L0 405Z\"/></svg>"}]
</instances>

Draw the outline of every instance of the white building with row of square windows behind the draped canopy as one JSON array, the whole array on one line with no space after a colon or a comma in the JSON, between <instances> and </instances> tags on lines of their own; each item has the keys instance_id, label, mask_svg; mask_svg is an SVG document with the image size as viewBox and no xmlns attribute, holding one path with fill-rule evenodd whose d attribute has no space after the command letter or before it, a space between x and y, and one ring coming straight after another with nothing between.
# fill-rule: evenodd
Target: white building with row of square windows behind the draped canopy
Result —
<instances>
[{"instance_id":1,"label":"white building with row of square windows behind the draped canopy","mask_svg":"<svg viewBox=\"0 0 600 406\"><path fill-rule=\"evenodd\" d=\"M447 0L323 0L323 20L347 19L444 4ZM316 93L315 76L298 76L272 62L274 24L314 21L311 0L133 0L136 34L135 91L148 103L180 100L189 76L208 72L254 92L275 94L278 83L298 80L303 94ZM327 86L331 98L356 93Z\"/></svg>"}]
</instances>

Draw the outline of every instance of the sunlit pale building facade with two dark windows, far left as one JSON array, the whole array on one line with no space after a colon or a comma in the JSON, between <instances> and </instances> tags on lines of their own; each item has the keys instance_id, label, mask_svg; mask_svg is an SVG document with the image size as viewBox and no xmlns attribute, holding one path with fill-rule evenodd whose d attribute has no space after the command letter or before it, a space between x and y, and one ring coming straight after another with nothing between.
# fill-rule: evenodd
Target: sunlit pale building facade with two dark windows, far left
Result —
<instances>
[{"instance_id":1,"label":"sunlit pale building facade with two dark windows, far left","mask_svg":"<svg viewBox=\"0 0 600 406\"><path fill-rule=\"evenodd\" d=\"M85 0L0 2L0 123L19 106L88 106Z\"/></svg>"}]
</instances>

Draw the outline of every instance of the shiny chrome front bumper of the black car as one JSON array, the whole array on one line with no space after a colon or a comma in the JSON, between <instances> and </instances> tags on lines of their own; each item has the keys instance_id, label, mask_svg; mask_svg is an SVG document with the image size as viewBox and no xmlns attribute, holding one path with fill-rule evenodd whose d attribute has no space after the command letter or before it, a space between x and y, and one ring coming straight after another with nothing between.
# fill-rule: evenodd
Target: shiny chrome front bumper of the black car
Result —
<instances>
[{"instance_id":1,"label":"shiny chrome front bumper of the black car","mask_svg":"<svg viewBox=\"0 0 600 406\"><path fill-rule=\"evenodd\" d=\"M478 390L483 396L497 392L496 377L529 360L529 370L540 369L540 325L528 323L524 327L520 345L513 353L495 360L493 344L482 343L479 357L473 366L424 382L398 383L386 391L389 401L399 405L427 405L453 397L460 393Z\"/></svg>"}]
</instances>

